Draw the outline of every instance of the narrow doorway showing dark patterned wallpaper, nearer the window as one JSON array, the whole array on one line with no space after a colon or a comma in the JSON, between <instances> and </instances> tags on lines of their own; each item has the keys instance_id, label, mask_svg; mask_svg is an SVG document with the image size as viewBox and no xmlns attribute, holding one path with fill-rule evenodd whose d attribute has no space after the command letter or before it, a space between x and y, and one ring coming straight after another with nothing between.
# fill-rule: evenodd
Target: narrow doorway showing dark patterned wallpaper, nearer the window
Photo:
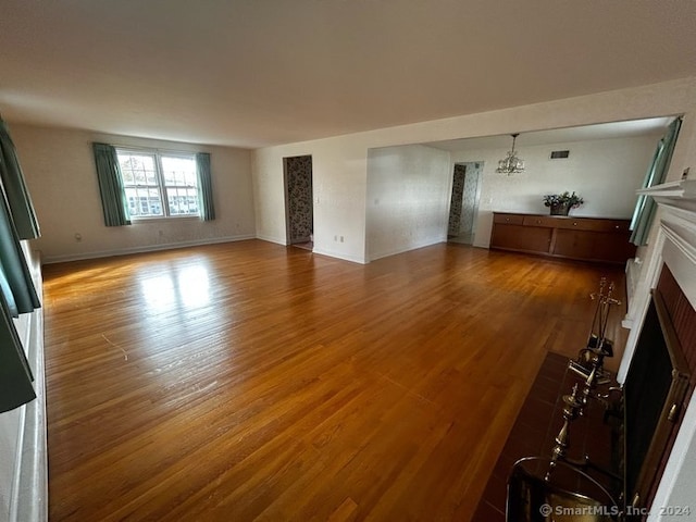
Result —
<instances>
[{"instance_id":1,"label":"narrow doorway showing dark patterned wallpaper, nearer the window","mask_svg":"<svg viewBox=\"0 0 696 522\"><path fill-rule=\"evenodd\" d=\"M312 250L314 247L312 157L283 158L283 170L287 244Z\"/></svg>"}]
</instances>

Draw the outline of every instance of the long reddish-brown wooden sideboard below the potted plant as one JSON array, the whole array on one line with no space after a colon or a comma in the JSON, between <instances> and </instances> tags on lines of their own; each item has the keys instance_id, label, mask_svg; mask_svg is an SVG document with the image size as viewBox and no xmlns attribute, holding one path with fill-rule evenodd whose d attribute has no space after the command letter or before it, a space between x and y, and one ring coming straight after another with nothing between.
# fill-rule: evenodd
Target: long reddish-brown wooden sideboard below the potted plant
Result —
<instances>
[{"instance_id":1,"label":"long reddish-brown wooden sideboard below the potted plant","mask_svg":"<svg viewBox=\"0 0 696 522\"><path fill-rule=\"evenodd\" d=\"M629 220L493 213L490 248L604 263L635 256Z\"/></svg>"}]
</instances>

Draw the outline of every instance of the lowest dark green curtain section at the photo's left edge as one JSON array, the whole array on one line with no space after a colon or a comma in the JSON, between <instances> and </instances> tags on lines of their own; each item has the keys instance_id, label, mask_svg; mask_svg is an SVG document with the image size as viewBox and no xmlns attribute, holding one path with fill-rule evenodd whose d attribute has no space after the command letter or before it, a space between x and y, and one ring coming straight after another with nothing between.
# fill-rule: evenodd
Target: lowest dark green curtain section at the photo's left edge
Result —
<instances>
[{"instance_id":1,"label":"lowest dark green curtain section at the photo's left edge","mask_svg":"<svg viewBox=\"0 0 696 522\"><path fill-rule=\"evenodd\" d=\"M0 294L0 413L36 398L32 369L14 330L8 303Z\"/></svg>"}]
</instances>

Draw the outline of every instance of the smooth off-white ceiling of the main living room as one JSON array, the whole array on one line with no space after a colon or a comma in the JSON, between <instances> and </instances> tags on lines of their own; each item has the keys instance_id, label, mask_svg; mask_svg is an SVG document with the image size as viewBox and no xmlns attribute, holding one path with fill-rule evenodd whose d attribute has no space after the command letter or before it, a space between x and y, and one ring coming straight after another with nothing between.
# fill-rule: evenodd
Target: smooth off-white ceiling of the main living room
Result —
<instances>
[{"instance_id":1,"label":"smooth off-white ceiling of the main living room","mask_svg":"<svg viewBox=\"0 0 696 522\"><path fill-rule=\"evenodd\" d=\"M694 0L0 0L0 112L261 147L694 76L695 28Z\"/></svg>"}]
</instances>

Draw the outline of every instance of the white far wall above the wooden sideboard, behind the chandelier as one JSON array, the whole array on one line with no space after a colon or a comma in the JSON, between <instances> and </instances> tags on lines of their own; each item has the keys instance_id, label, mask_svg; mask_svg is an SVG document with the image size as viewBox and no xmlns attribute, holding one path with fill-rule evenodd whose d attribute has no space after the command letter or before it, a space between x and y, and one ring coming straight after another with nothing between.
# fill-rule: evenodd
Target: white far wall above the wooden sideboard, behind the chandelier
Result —
<instances>
[{"instance_id":1,"label":"white far wall above the wooden sideboard, behind the chandelier","mask_svg":"<svg viewBox=\"0 0 696 522\"><path fill-rule=\"evenodd\" d=\"M521 174L495 172L507 149L452 152L453 162L483 161L484 175L474 245L488 247L493 212L547 214L542 196L576 191L585 203L572 215L630 219L661 136L518 147L525 162ZM550 160L552 150L570 150L567 160Z\"/></svg>"}]
</instances>

